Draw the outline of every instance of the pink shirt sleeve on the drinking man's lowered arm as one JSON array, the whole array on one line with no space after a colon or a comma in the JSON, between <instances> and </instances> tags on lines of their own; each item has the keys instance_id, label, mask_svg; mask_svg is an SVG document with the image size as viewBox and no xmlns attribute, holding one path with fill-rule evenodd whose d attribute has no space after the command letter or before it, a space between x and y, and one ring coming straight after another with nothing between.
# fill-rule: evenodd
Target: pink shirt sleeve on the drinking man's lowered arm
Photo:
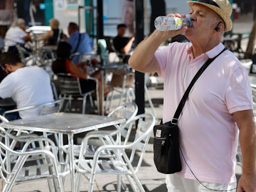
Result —
<instances>
[{"instance_id":1,"label":"pink shirt sleeve on the drinking man's lowered arm","mask_svg":"<svg viewBox=\"0 0 256 192\"><path fill-rule=\"evenodd\" d=\"M247 70L243 66L236 68L227 83L225 102L229 113L252 109L252 94Z\"/></svg>"}]
</instances>

